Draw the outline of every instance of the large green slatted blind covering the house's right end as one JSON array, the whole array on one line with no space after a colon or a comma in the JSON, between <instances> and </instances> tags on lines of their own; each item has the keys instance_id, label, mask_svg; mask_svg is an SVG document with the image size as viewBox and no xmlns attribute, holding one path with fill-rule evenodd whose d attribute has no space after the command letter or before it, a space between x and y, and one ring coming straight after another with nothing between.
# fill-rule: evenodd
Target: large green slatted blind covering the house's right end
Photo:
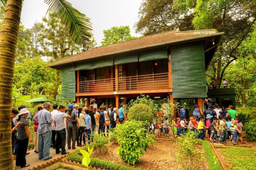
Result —
<instances>
[{"instance_id":1,"label":"large green slatted blind covering the house's right end","mask_svg":"<svg viewBox=\"0 0 256 170\"><path fill-rule=\"evenodd\" d=\"M171 46L174 98L207 97L204 42Z\"/></svg>"}]
</instances>

